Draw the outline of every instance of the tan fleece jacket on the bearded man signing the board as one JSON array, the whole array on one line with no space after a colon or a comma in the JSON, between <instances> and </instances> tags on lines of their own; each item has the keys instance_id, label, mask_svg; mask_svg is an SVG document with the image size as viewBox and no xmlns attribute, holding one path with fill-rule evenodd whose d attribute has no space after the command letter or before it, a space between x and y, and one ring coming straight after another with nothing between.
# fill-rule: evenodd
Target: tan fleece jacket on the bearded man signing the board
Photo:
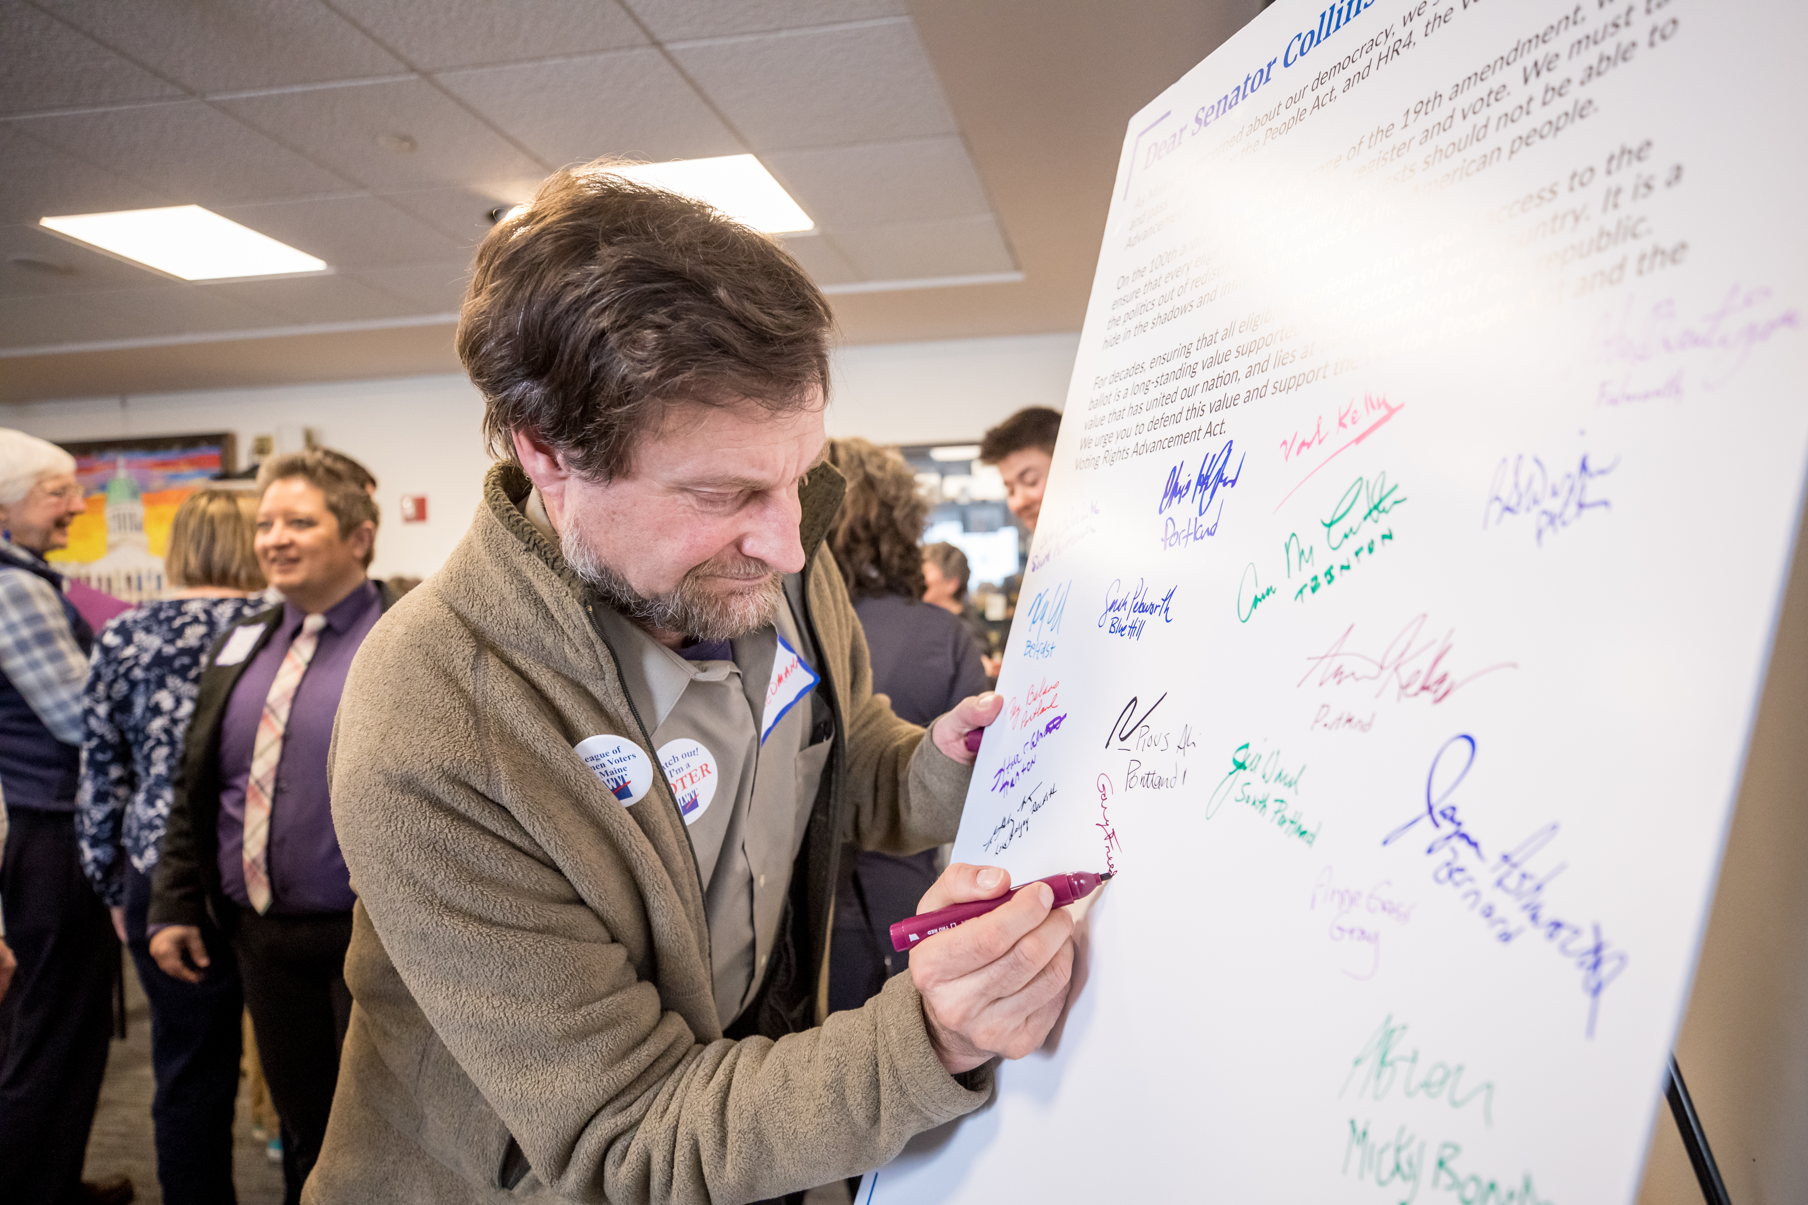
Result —
<instances>
[{"instance_id":1,"label":"tan fleece jacket on the bearded man signing the board","mask_svg":"<svg viewBox=\"0 0 1808 1205\"><path fill-rule=\"evenodd\" d=\"M465 540L345 683L333 818L360 894L356 1006L304 1200L730 1205L868 1171L978 1107L989 1075L942 1070L909 976L801 1033L721 1037L667 784L622 808L571 752L645 737L582 584L517 509L526 493L519 468L490 472ZM871 692L819 547L839 499L833 470L812 472L805 585L837 703L833 817L864 847L926 849L953 836L965 771ZM799 867L833 845L806 842ZM832 855L828 874L832 891ZM812 977L824 956L810 950ZM504 1191L510 1136L532 1171Z\"/></svg>"}]
</instances>

